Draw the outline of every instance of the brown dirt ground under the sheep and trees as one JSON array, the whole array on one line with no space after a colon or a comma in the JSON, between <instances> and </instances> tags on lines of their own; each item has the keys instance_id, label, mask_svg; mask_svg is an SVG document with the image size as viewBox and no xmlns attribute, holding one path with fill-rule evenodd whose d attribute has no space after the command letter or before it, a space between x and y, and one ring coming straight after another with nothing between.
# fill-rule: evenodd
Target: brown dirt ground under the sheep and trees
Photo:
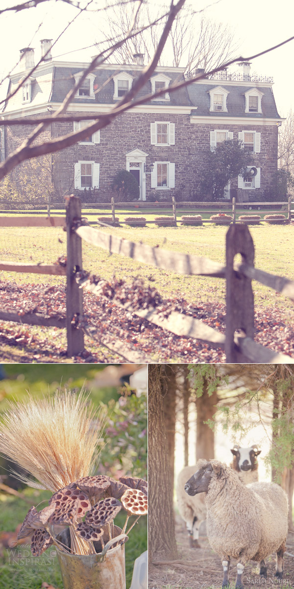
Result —
<instances>
[{"instance_id":1,"label":"brown dirt ground under the sheep and trees","mask_svg":"<svg viewBox=\"0 0 294 589\"><path fill-rule=\"evenodd\" d=\"M220 558L212 551L205 535L205 524L201 526L199 544L201 548L190 548L188 534L179 515L175 522L179 560L168 565L149 565L149 589L206 589L219 588L222 585L222 564ZM287 552L294 554L294 534L289 532L287 538ZM248 562L243 574L245 589L249 587L294 587L294 557L285 555L284 578L275 579L275 555L266 559L268 578L259 577L256 562ZM230 585L235 585L236 560L230 565Z\"/></svg>"}]
</instances>

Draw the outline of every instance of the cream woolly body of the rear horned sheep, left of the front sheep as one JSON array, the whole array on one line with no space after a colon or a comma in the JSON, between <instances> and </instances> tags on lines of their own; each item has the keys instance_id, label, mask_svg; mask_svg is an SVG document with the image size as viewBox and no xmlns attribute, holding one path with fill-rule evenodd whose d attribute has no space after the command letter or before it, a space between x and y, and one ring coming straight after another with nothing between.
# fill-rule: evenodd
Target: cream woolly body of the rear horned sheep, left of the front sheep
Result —
<instances>
[{"instance_id":1,"label":"cream woolly body of the rear horned sheep, left of the front sheep","mask_svg":"<svg viewBox=\"0 0 294 589\"><path fill-rule=\"evenodd\" d=\"M185 491L186 482L192 477L196 470L196 466L185 466L185 468L179 473L176 486L179 513L181 518L186 524L188 524L190 530L192 530L195 517L197 518L198 530L201 522L206 519L205 493L199 493L199 495L191 497L190 495L187 495Z\"/></svg>"}]
</instances>

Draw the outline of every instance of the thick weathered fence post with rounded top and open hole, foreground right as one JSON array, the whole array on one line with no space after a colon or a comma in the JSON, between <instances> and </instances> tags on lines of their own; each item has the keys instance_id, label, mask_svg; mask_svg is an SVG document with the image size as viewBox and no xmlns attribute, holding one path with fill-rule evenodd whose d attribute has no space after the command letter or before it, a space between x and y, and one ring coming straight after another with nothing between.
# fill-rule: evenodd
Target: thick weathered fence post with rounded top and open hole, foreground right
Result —
<instances>
[{"instance_id":1,"label":"thick weathered fence post with rounded top and open hole, foreground right","mask_svg":"<svg viewBox=\"0 0 294 589\"><path fill-rule=\"evenodd\" d=\"M254 266L254 244L246 225L229 227L226 234L226 362L246 362L234 342L236 330L254 339L254 300L251 279L233 269L236 254Z\"/></svg>"}]
</instances>

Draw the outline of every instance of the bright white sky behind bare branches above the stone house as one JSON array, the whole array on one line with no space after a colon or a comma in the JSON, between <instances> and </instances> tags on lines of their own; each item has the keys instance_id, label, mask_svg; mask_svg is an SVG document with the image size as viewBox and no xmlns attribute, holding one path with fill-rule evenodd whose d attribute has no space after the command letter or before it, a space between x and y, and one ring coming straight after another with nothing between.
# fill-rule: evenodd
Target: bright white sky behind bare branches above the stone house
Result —
<instances>
[{"instance_id":1,"label":"bright white sky behind bare branches above the stone house","mask_svg":"<svg viewBox=\"0 0 294 589\"><path fill-rule=\"evenodd\" d=\"M2 0L1 8L18 4L16 0ZM159 2L154 2L158 6ZM193 9L203 9L202 14L228 24L239 41L238 55L249 57L294 35L293 0L192 0ZM208 4L211 4L208 6ZM105 0L93 0L94 8L103 8ZM206 8L207 7L207 8ZM76 9L63 2L45 2L25 11L6 12L0 15L0 51L2 74L7 74L19 58L19 49L34 47L36 58L40 54L40 40L55 39L71 20ZM103 11L76 19L56 44L52 55L69 61L88 61L95 55L95 41L103 29ZM88 47L84 49L85 47ZM76 51L79 49L79 51ZM278 112L286 117L292 107L294 95L293 76L294 41L252 61L252 72L273 77L273 92Z\"/></svg>"}]
</instances>

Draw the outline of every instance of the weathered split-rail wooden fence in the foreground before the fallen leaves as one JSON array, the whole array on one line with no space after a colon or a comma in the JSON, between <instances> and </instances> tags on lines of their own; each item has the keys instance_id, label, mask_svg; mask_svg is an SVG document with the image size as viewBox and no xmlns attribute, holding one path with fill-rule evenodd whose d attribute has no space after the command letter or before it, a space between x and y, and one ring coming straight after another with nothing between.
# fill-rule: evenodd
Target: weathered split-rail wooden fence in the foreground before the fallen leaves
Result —
<instances>
[{"instance_id":1,"label":"weathered split-rail wooden fence in the foreground before the fallen leaves","mask_svg":"<svg viewBox=\"0 0 294 589\"><path fill-rule=\"evenodd\" d=\"M178 336L192 337L225 350L226 362L294 363L294 358L265 348L254 341L254 301L252 280L265 284L294 300L294 282L275 276L254 266L255 249L250 231L246 225L232 224L226 234L226 266L204 257L184 253L173 253L161 247L135 243L119 236L105 233L89 226L82 219L81 201L71 196L66 199L65 217L0 217L0 227L56 227L63 226L67 233L66 266L55 264L23 264L0 262L0 270L10 272L32 272L66 276L66 317L43 317L38 313L17 315L0 310L0 320L45 327L66 328L68 356L79 355L84 349L83 290L101 297L101 286L89 277L82 277L82 241L101 247L109 254L119 254L153 267L198 276L218 277L226 280L226 332L205 325L201 320L183 313L171 312L164 317L156 307L133 309L132 303L113 302L142 319L169 330ZM240 254L242 261L235 262ZM103 342L102 342L103 345ZM117 342L115 351L123 358L133 361L148 361L148 358L133 353L126 356L123 343Z\"/></svg>"}]
</instances>

